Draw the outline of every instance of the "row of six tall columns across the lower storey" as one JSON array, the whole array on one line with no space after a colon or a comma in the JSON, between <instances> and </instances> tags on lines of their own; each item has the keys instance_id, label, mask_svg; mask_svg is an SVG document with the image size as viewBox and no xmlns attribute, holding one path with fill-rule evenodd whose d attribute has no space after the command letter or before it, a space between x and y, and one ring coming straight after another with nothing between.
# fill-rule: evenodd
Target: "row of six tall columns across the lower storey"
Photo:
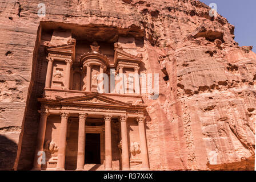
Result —
<instances>
[{"instance_id":1,"label":"row of six tall columns across the lower storey","mask_svg":"<svg viewBox=\"0 0 256 182\"><path fill-rule=\"evenodd\" d=\"M47 118L50 115L49 110L39 111L41 114L38 135L37 135L37 147L34 155L33 170L41 170L42 157L40 152L43 151L43 144L46 133ZM59 149L58 160L56 170L65 170L65 155L66 155L66 138L67 138L67 123L70 113L66 111L60 112L61 117L61 129L59 133ZM111 119L113 115L102 115L105 121L105 170L112 170L112 146L111 146ZM83 170L85 166L85 148L86 148L86 118L87 113L79 113L78 124L78 150L77 150L77 170ZM119 115L118 119L121 122L121 139L122 139L122 170L130 170L129 159L129 144L127 134L127 115ZM147 141L145 132L145 117L138 116L138 130L139 139L141 143L141 158L142 158L142 170L149 170L149 156L147 151Z\"/></svg>"}]
</instances>

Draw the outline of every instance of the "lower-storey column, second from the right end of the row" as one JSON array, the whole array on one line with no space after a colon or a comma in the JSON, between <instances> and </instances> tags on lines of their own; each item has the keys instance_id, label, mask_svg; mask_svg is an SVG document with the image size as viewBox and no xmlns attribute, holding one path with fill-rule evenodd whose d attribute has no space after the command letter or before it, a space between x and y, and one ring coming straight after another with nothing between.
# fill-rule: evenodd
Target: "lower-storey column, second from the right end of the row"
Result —
<instances>
[{"instance_id":1,"label":"lower-storey column, second from the right end of the row","mask_svg":"<svg viewBox=\"0 0 256 182\"><path fill-rule=\"evenodd\" d=\"M122 169L130 170L128 136L127 136L127 116L120 117L121 137L122 137Z\"/></svg>"}]
</instances>

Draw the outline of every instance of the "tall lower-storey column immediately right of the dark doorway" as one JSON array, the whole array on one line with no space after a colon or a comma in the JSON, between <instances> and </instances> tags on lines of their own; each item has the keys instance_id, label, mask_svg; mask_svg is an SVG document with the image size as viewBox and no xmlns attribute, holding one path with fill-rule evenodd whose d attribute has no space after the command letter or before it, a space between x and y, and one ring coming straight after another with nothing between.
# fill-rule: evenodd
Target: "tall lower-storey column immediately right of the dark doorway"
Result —
<instances>
[{"instance_id":1,"label":"tall lower-storey column immediately right of the dark doorway","mask_svg":"<svg viewBox=\"0 0 256 182\"><path fill-rule=\"evenodd\" d=\"M112 170L111 118L105 115L105 169Z\"/></svg>"}]
</instances>

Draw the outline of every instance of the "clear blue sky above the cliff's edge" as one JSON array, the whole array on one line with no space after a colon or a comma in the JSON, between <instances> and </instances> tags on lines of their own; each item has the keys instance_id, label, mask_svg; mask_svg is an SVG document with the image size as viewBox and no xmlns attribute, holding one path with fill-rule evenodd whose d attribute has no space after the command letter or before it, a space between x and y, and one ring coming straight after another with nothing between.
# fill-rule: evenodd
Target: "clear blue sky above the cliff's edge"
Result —
<instances>
[{"instance_id":1,"label":"clear blue sky above the cliff's edge","mask_svg":"<svg viewBox=\"0 0 256 182\"><path fill-rule=\"evenodd\" d=\"M207 6L217 4L217 11L235 26L239 46L253 46L256 52L256 0L200 0Z\"/></svg>"}]
</instances>

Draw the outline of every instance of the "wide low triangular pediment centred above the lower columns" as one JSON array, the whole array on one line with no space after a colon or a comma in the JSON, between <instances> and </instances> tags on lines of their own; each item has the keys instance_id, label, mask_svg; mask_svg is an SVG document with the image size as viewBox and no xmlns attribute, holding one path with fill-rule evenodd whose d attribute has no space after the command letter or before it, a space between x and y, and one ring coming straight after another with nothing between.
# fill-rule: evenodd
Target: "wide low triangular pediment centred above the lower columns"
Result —
<instances>
[{"instance_id":1,"label":"wide low triangular pediment centred above the lower columns","mask_svg":"<svg viewBox=\"0 0 256 182\"><path fill-rule=\"evenodd\" d=\"M127 104L122 101L114 100L113 98L99 95L97 93L87 94L85 96L64 98L61 101L62 102L75 102L77 104L79 103L79 104L121 105L121 106L131 105L131 104Z\"/></svg>"}]
</instances>

